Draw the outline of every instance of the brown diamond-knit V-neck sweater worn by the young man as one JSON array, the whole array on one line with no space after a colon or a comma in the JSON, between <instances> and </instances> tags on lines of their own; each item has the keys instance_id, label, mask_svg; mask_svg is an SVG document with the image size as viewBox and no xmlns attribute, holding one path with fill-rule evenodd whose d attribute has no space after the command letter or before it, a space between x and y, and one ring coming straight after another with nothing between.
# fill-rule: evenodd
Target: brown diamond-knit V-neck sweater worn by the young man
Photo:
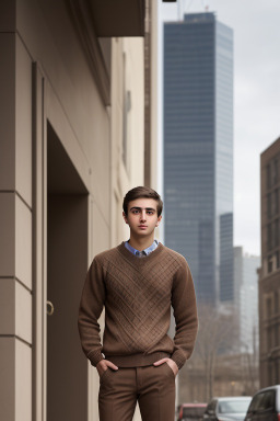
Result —
<instances>
[{"instance_id":1,"label":"brown diamond-knit V-neck sweater worn by the young man","mask_svg":"<svg viewBox=\"0 0 280 421\"><path fill-rule=\"evenodd\" d=\"M167 335L171 306L176 321L173 340ZM144 258L133 255L124 242L97 254L86 274L78 326L82 349L94 366L105 354L119 367L151 365L167 356L182 368L191 355L198 328L185 258L162 243Z\"/></svg>"}]
</instances>

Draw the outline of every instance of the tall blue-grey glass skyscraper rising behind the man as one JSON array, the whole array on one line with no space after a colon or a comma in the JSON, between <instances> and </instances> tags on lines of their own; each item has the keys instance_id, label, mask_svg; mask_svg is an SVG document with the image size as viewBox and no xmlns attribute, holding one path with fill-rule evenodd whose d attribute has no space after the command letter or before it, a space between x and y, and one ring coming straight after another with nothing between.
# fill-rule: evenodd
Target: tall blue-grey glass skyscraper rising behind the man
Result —
<instances>
[{"instance_id":1,"label":"tall blue-grey glass skyscraper rising behind the man","mask_svg":"<svg viewBox=\"0 0 280 421\"><path fill-rule=\"evenodd\" d=\"M232 301L233 32L210 12L164 24L164 220L198 299Z\"/></svg>"}]
</instances>

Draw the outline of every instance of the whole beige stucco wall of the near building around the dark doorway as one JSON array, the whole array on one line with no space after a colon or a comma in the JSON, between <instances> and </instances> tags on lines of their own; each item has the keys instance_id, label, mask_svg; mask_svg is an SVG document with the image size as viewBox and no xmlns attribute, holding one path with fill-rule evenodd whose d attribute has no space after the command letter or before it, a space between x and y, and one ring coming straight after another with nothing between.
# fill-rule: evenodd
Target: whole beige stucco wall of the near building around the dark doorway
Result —
<instances>
[{"instance_id":1,"label":"whole beige stucco wall of the near building around the dark doorway","mask_svg":"<svg viewBox=\"0 0 280 421\"><path fill-rule=\"evenodd\" d=\"M109 109L98 94L65 2L1 4L0 55L5 57L0 68L0 419L30 421L34 412L34 419L44 421L46 122L89 191L90 264L95 253L127 238L122 197L143 182L143 41L113 39ZM121 160L124 81L132 104L129 170ZM35 156L38 172L34 141L42 151ZM36 192L34 177L42 182ZM42 329L34 328L34 317ZM97 374L89 365L89 420L97 420Z\"/></svg>"}]
</instances>

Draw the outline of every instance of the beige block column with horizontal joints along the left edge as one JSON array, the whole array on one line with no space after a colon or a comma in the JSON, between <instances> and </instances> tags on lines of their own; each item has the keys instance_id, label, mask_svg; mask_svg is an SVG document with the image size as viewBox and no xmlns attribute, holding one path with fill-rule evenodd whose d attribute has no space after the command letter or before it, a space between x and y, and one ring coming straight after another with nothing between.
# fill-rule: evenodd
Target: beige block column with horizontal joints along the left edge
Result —
<instances>
[{"instance_id":1,"label":"beige block column with horizontal joints along the left edge","mask_svg":"<svg viewBox=\"0 0 280 421\"><path fill-rule=\"evenodd\" d=\"M0 5L0 419L32 419L32 60Z\"/></svg>"}]
</instances>

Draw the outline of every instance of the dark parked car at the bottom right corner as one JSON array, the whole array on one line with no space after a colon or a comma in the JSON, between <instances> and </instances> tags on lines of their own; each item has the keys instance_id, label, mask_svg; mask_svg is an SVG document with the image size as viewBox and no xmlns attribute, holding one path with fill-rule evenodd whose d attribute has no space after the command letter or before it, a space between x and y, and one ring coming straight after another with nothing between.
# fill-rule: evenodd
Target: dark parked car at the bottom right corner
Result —
<instances>
[{"instance_id":1,"label":"dark parked car at the bottom right corner","mask_svg":"<svg viewBox=\"0 0 280 421\"><path fill-rule=\"evenodd\" d=\"M252 399L246 421L280 421L280 385L257 391Z\"/></svg>"}]
</instances>

